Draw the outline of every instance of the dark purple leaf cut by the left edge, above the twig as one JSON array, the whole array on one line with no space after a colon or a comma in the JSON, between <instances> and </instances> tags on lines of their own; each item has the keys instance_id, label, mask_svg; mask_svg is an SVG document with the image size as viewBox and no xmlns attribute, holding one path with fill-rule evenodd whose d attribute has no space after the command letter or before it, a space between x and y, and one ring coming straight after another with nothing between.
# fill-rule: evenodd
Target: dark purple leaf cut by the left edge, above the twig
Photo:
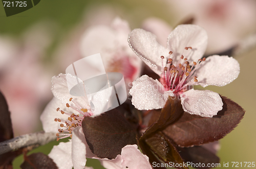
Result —
<instances>
[{"instance_id":1,"label":"dark purple leaf cut by the left edge, above the twig","mask_svg":"<svg viewBox=\"0 0 256 169\"><path fill-rule=\"evenodd\" d=\"M4 95L0 92L0 142L13 138L10 111Z\"/></svg>"}]
</instances>

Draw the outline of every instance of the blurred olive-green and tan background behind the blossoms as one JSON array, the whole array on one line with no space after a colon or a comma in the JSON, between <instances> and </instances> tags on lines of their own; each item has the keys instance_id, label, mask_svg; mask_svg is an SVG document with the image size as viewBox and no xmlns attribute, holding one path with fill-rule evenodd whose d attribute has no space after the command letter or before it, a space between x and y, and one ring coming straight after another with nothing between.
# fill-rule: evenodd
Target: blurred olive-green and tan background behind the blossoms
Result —
<instances>
[{"instance_id":1,"label":"blurred olive-green and tan background behind the blossoms","mask_svg":"<svg viewBox=\"0 0 256 169\"><path fill-rule=\"evenodd\" d=\"M112 8L112 12L122 19L129 21L131 29L140 27L141 22L150 16L159 17L170 25L175 26L178 22L175 14L169 9L163 1L92 1L92 0L43 0L37 6L25 12L6 17L4 8L0 5L0 35L7 35L14 38L20 38L25 30L39 22L47 22L54 25L54 34L52 44L47 48L47 57L44 58L46 67L54 70L54 66L47 64L53 60L53 51L58 44L65 39L72 29L81 22L87 23L90 18L87 17L89 12L96 7L107 5ZM100 11L99 11L100 12ZM49 25L49 26L52 26ZM85 28L89 25L84 24ZM256 112L253 110L256 99L255 90L255 68L256 48L245 53L236 55L240 63L241 73L239 77L225 87L206 87L207 90L215 91L226 96L241 105L246 114L241 123L231 133L220 140L221 150L218 155L223 162L256 162ZM51 75L57 75L59 72L52 71ZM51 80L51 79L49 79ZM49 87L50 90L50 87ZM36 130L41 130L38 126ZM63 140L61 140L63 141ZM67 141L64 140L64 141ZM57 142L52 142L42 146L32 152L43 152L48 154ZM19 168L23 157L19 156L14 161L14 168ZM101 168L97 160L89 160L88 166ZM221 167L222 168L222 167Z\"/></svg>"}]
</instances>

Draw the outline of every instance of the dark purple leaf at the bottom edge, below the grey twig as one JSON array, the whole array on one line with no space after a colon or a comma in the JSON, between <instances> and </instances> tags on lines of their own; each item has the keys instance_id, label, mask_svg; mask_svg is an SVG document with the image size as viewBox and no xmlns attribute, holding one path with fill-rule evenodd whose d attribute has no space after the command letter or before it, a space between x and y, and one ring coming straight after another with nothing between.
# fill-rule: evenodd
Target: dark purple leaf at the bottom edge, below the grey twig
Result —
<instances>
[{"instance_id":1,"label":"dark purple leaf at the bottom edge, below the grey twig","mask_svg":"<svg viewBox=\"0 0 256 169\"><path fill-rule=\"evenodd\" d=\"M24 157L25 161L20 165L22 169L57 169L53 160L43 153L33 153Z\"/></svg>"}]
</instances>

